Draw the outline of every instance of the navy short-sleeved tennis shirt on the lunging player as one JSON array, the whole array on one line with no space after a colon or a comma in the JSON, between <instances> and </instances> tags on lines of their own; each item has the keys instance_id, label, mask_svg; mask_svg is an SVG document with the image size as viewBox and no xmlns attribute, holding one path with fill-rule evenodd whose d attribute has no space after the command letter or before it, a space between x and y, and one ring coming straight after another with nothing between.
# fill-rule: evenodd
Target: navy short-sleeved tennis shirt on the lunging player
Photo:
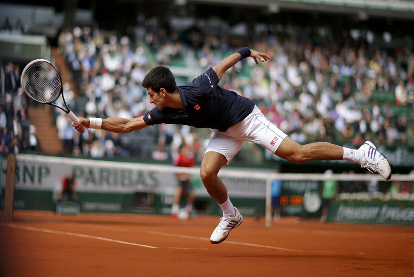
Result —
<instances>
[{"instance_id":1,"label":"navy short-sleeved tennis shirt on the lunging player","mask_svg":"<svg viewBox=\"0 0 414 277\"><path fill-rule=\"evenodd\" d=\"M144 115L147 125L174 123L197 128L218 129L221 132L251 113L254 103L234 91L219 87L218 76L210 67L187 85L178 86L184 110L157 107Z\"/></svg>"}]
</instances>

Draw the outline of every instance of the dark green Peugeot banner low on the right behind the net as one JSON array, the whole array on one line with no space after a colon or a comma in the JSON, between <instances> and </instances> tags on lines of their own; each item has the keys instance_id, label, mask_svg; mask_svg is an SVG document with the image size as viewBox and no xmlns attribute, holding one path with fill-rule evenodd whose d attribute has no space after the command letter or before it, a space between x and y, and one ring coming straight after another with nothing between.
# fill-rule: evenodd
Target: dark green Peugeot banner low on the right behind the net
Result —
<instances>
[{"instance_id":1,"label":"dark green Peugeot banner low on the right behind the net","mask_svg":"<svg viewBox=\"0 0 414 277\"><path fill-rule=\"evenodd\" d=\"M329 206L328 221L414 225L414 202L338 203Z\"/></svg>"}]
</instances>

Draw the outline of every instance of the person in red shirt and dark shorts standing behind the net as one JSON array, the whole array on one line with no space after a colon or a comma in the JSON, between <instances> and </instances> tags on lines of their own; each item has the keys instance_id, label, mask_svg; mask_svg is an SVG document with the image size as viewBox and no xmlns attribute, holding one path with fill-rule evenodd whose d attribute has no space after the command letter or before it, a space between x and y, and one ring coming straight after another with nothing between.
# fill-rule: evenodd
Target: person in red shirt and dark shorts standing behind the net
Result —
<instances>
[{"instance_id":1,"label":"person in red shirt and dark shorts standing behind the net","mask_svg":"<svg viewBox=\"0 0 414 277\"><path fill-rule=\"evenodd\" d=\"M193 167L194 155L191 152L190 145L183 144L179 149L178 156L174 159L173 164L175 166ZM171 208L171 215L174 218L178 218L179 205L181 197L186 198L185 211L188 217L191 216L191 211L194 204L194 191L191 183L191 176L187 173L177 173L178 187L173 198L173 206Z\"/></svg>"}]
</instances>

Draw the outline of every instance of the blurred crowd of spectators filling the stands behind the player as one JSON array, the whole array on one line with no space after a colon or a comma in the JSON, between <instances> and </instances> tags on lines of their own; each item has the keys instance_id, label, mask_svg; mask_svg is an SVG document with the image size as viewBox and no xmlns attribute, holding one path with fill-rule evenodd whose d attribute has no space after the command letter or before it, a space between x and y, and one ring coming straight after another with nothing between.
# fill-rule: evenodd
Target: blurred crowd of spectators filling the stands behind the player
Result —
<instances>
[{"instance_id":1,"label":"blurred crowd of spectators filling the stands behind the player","mask_svg":"<svg viewBox=\"0 0 414 277\"><path fill-rule=\"evenodd\" d=\"M6 21L2 30L21 33L20 25L17 22L12 27ZM196 26L185 31L161 27L156 19L144 17L139 17L128 36L103 31L97 25L64 28L57 40L75 83L75 87L63 85L65 99L79 116L139 117L152 109L141 86L152 66L184 65L202 73L248 46L271 59L258 66L253 59L237 63L223 76L220 86L251 98L293 140L355 147L372 140L378 145L413 146L413 37L404 37L404 46L387 47L390 40L403 38L390 38L388 33L310 30L278 25L262 26L253 35L213 34ZM193 59L188 59L189 53ZM7 119L7 133L12 132L13 121L21 125L21 118L27 117L27 112L19 112L27 110L27 103L21 100L17 80L20 69L12 64L4 68L8 76L14 76L8 78L6 100L13 103L9 105L13 109L3 105L0 114L0 120L3 114ZM178 85L194 77L178 79ZM147 133L140 132L140 136L100 130L78 134L63 112L54 109L54 113L64 151L73 155L169 159L186 143L193 145L200 159L210 135L208 130L174 125L157 125ZM31 134L30 128L26 129L22 128L22 137L24 132ZM16 134L18 128L14 128L13 136L4 137L14 138ZM4 140L10 149L13 139Z\"/></svg>"}]
</instances>

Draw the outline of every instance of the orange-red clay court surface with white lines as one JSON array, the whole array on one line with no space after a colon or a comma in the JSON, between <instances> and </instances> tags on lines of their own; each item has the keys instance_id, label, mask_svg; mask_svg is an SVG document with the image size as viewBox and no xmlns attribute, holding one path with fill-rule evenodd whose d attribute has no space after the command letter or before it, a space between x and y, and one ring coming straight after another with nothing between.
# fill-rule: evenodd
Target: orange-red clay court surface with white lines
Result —
<instances>
[{"instance_id":1,"label":"orange-red clay court surface with white lines","mask_svg":"<svg viewBox=\"0 0 414 277\"><path fill-rule=\"evenodd\" d=\"M36 219L36 217L34 217ZM82 214L0 222L0 276L414 276L414 227Z\"/></svg>"}]
</instances>

